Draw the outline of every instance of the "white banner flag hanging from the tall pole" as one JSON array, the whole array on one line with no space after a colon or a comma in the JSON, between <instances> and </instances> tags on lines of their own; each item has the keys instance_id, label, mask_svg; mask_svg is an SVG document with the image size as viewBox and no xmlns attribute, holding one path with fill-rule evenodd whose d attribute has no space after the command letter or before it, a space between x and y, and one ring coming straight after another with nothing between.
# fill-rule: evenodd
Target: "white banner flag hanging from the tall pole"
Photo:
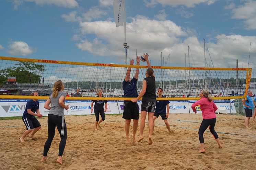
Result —
<instances>
[{"instance_id":1,"label":"white banner flag hanging from the tall pole","mask_svg":"<svg viewBox=\"0 0 256 170\"><path fill-rule=\"evenodd\" d=\"M116 21L116 27L124 25L124 0L113 1L114 16Z\"/></svg>"}]
</instances>

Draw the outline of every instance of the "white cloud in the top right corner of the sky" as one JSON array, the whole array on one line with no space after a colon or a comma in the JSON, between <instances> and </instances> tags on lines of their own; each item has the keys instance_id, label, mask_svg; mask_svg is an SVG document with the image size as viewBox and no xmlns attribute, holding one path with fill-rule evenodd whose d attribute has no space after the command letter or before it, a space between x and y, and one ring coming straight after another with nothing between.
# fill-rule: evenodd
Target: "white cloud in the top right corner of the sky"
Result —
<instances>
[{"instance_id":1,"label":"white cloud in the top right corner of the sky","mask_svg":"<svg viewBox=\"0 0 256 170\"><path fill-rule=\"evenodd\" d=\"M256 29L256 1L246 1L232 10L232 18L243 19L245 29Z\"/></svg>"}]
</instances>

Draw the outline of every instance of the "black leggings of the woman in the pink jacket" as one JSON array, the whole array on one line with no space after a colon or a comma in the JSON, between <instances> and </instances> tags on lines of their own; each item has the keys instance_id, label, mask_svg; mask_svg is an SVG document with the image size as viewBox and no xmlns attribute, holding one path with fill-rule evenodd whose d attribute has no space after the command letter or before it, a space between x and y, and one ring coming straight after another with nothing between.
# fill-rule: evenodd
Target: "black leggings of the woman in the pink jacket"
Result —
<instances>
[{"instance_id":1,"label":"black leggings of the woman in the pink jacket","mask_svg":"<svg viewBox=\"0 0 256 170\"><path fill-rule=\"evenodd\" d=\"M203 132L205 132L205 130L208 128L208 126L210 126L210 132L213 134L214 139L219 138L218 134L214 130L215 123L216 123L216 118L203 119L203 121L200 125L200 128L199 128L199 131L198 131L200 143L203 143Z\"/></svg>"}]
</instances>

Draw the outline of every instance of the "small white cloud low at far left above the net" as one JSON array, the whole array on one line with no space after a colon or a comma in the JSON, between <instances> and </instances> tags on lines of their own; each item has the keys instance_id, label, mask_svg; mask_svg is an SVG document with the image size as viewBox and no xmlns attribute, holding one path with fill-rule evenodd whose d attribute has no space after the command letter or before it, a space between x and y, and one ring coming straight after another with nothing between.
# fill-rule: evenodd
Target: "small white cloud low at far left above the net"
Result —
<instances>
[{"instance_id":1,"label":"small white cloud low at far left above the net","mask_svg":"<svg viewBox=\"0 0 256 170\"><path fill-rule=\"evenodd\" d=\"M24 41L13 41L9 45L9 53L12 55L30 55L33 53L33 48L29 47L28 44Z\"/></svg>"}]
</instances>

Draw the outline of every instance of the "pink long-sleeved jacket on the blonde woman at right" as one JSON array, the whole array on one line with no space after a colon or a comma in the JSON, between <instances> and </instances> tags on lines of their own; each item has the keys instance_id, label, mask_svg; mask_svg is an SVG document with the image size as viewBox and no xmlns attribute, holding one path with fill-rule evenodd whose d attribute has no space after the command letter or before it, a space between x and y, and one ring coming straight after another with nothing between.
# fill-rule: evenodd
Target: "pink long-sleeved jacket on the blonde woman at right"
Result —
<instances>
[{"instance_id":1,"label":"pink long-sleeved jacket on the blonde woman at right","mask_svg":"<svg viewBox=\"0 0 256 170\"><path fill-rule=\"evenodd\" d=\"M218 109L213 101L209 102L206 97L202 97L196 103L193 103L191 108L195 112L196 106L200 105L200 109L202 111L203 119L212 119L216 118L215 111Z\"/></svg>"}]
</instances>

